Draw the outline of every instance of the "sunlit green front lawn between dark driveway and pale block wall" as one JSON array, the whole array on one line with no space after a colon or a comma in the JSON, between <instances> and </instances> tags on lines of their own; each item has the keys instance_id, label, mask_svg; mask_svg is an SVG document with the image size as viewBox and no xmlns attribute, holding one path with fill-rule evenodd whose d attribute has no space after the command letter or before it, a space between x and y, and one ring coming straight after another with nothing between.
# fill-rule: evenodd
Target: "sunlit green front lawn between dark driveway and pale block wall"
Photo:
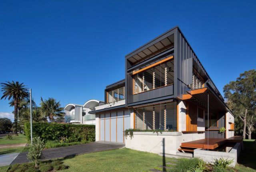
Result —
<instances>
[{"instance_id":1,"label":"sunlit green front lawn between dark driveway and pale block wall","mask_svg":"<svg viewBox=\"0 0 256 172\"><path fill-rule=\"evenodd\" d=\"M170 162L172 158L166 158ZM61 172L144 172L162 164L158 154L140 152L128 148L78 155L63 160L69 166Z\"/></svg>"}]
</instances>

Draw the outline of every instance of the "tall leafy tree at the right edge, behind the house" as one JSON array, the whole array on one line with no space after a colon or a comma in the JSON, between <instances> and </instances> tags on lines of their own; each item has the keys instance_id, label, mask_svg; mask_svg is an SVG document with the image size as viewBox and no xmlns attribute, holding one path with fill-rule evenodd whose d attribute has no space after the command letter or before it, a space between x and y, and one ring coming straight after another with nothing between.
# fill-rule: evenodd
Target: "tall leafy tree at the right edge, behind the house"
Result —
<instances>
[{"instance_id":1,"label":"tall leafy tree at the right edge, behind the house","mask_svg":"<svg viewBox=\"0 0 256 172\"><path fill-rule=\"evenodd\" d=\"M224 97L234 115L243 122L243 138L246 136L247 119L254 121L252 113L256 107L256 70L245 71L236 81L231 81L224 86ZM238 121L238 120L236 120ZM249 122L249 125L254 125ZM253 130L253 127L250 130Z\"/></svg>"}]
</instances>

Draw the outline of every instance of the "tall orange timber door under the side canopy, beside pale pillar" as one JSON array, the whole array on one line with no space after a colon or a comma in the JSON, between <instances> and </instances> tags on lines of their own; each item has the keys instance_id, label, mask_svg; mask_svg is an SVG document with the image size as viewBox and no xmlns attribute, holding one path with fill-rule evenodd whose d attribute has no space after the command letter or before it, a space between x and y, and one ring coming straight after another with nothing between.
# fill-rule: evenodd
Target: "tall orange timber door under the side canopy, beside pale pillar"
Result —
<instances>
[{"instance_id":1,"label":"tall orange timber door under the side canopy, beside pale pillar","mask_svg":"<svg viewBox=\"0 0 256 172\"><path fill-rule=\"evenodd\" d=\"M186 103L186 131L197 131L197 106Z\"/></svg>"}]
</instances>

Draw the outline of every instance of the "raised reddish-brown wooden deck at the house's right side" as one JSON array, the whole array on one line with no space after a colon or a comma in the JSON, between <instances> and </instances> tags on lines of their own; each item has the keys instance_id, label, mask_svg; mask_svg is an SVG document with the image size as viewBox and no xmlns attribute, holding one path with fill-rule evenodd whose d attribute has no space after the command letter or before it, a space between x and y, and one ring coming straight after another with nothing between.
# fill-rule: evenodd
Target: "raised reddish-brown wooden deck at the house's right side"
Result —
<instances>
[{"instance_id":1,"label":"raised reddish-brown wooden deck at the house's right side","mask_svg":"<svg viewBox=\"0 0 256 172\"><path fill-rule=\"evenodd\" d=\"M204 148L204 149L215 149L226 142L241 142L242 136L233 136L231 138L207 138L201 140L195 140L191 142L184 142L181 144L181 148Z\"/></svg>"}]
</instances>

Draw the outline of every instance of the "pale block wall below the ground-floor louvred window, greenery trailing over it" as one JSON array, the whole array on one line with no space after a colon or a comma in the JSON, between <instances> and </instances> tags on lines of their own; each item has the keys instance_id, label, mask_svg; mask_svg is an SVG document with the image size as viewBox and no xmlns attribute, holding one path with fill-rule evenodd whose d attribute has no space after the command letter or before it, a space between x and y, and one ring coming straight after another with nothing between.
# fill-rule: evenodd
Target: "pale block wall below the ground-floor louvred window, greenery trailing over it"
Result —
<instances>
[{"instance_id":1,"label":"pale block wall below the ground-floor louvred window, greenery trailing over it","mask_svg":"<svg viewBox=\"0 0 256 172\"><path fill-rule=\"evenodd\" d=\"M174 154L182 142L189 142L204 138L204 134L182 134L182 132L133 132L132 139L125 139L126 148L160 154ZM164 146L163 146L164 145Z\"/></svg>"}]
</instances>

